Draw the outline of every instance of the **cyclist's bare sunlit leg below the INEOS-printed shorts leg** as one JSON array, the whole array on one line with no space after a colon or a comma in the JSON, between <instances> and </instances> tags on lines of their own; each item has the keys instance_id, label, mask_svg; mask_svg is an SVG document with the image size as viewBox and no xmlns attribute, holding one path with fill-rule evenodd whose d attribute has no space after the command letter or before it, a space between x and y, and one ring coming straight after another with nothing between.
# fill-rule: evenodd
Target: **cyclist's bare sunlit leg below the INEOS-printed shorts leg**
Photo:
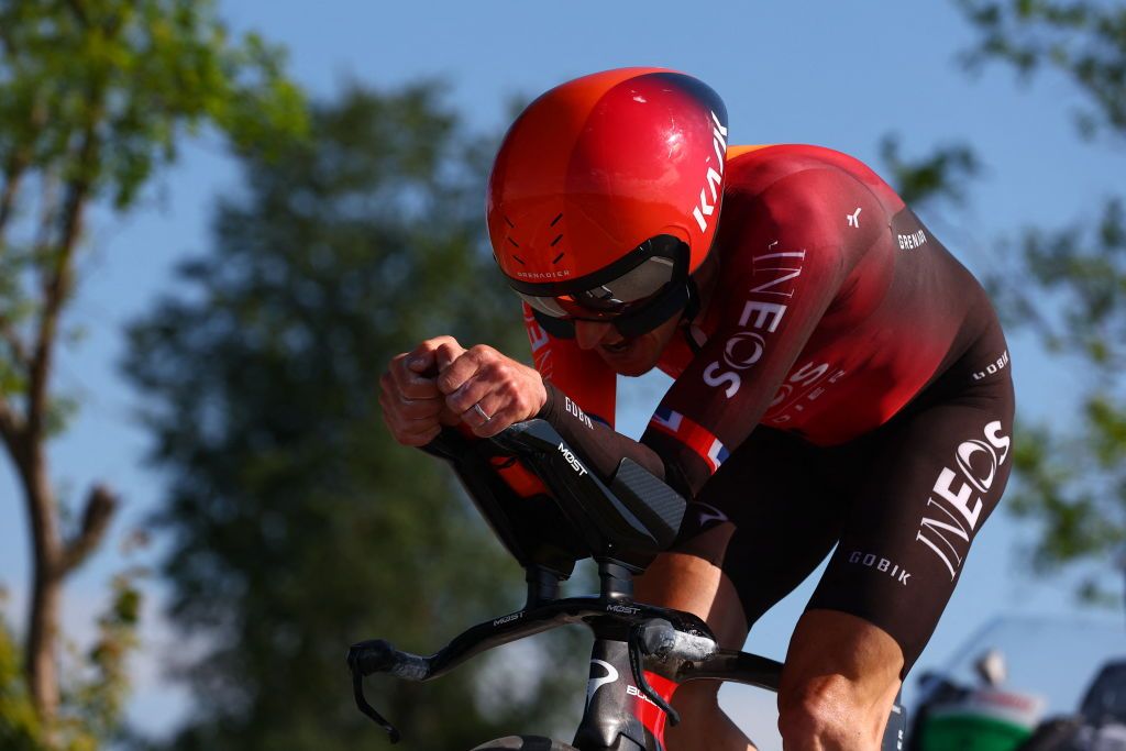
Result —
<instances>
[{"instance_id":1,"label":"cyclist's bare sunlit leg below the INEOS-printed shorts leg","mask_svg":"<svg viewBox=\"0 0 1126 751\"><path fill-rule=\"evenodd\" d=\"M885 631L837 610L797 622L778 691L787 751L877 751L900 690L903 652Z\"/></svg>"}]
</instances>

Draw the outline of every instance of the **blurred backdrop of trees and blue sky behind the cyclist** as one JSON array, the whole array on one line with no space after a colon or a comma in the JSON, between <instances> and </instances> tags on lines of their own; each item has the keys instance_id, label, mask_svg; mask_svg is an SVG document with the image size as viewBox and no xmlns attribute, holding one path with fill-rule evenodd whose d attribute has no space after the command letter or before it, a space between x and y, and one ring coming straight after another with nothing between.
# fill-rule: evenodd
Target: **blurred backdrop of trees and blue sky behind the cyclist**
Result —
<instances>
[{"instance_id":1,"label":"blurred backdrop of trees and blue sky behind the cyclist","mask_svg":"<svg viewBox=\"0 0 1126 751\"><path fill-rule=\"evenodd\" d=\"M377 381L438 333L526 357L490 160L531 97L625 65L706 81L731 143L861 159L988 283L1017 472L905 697L997 649L1078 710L1126 652L1121 2L0 0L0 748L374 748L348 644L519 604ZM624 381L637 436L668 383ZM780 659L811 584L747 649ZM369 692L408 749L566 736L586 649ZM721 696L780 748L772 697Z\"/></svg>"}]
</instances>

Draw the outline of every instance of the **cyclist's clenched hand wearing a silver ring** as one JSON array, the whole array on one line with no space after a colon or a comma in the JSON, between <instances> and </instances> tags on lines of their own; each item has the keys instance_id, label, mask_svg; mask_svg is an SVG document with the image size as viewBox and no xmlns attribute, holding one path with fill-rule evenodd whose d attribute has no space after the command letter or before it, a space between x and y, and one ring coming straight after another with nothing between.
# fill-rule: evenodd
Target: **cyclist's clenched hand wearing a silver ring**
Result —
<instances>
[{"instance_id":1,"label":"cyclist's clenched hand wearing a silver ring","mask_svg":"<svg viewBox=\"0 0 1126 751\"><path fill-rule=\"evenodd\" d=\"M471 347L443 368L438 388L446 406L482 438L536 417L547 402L539 373L485 345Z\"/></svg>"}]
</instances>

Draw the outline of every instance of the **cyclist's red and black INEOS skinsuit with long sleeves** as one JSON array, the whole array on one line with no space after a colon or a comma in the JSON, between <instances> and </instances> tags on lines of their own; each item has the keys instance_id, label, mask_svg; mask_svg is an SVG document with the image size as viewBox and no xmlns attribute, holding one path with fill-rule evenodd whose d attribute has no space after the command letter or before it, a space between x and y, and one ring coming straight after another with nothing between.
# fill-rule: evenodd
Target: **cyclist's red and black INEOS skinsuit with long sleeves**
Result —
<instances>
[{"instance_id":1,"label":"cyclist's red and black INEOS skinsuit with long sleeves","mask_svg":"<svg viewBox=\"0 0 1126 751\"><path fill-rule=\"evenodd\" d=\"M749 623L837 545L808 607L887 631L905 674L1011 466L997 315L878 176L817 146L730 150L712 253L718 283L661 355L674 383L641 442L613 430L616 374L526 307L540 417L604 477L629 456L688 494L676 549L730 540L708 557Z\"/></svg>"}]
</instances>

